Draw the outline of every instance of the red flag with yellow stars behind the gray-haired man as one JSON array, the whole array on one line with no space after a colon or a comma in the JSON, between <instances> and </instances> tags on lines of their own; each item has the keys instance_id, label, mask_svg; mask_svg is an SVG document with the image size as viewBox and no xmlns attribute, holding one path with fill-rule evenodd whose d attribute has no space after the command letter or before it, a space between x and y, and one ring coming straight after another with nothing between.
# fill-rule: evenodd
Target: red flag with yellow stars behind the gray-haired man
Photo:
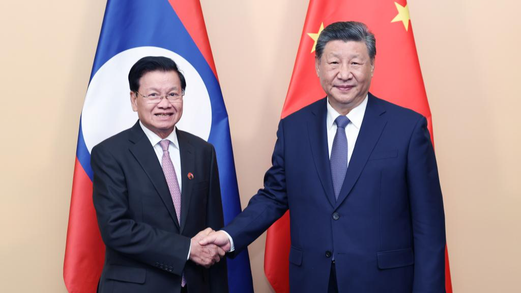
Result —
<instances>
[{"instance_id":1,"label":"red flag with yellow stars behind the gray-haired man","mask_svg":"<svg viewBox=\"0 0 521 293\"><path fill-rule=\"evenodd\" d=\"M337 21L363 22L375 34L377 55L370 92L424 115L434 142L406 0L310 0L281 118L325 96L315 73L314 49L321 30ZM286 213L268 229L266 238L264 271L277 293L289 292L289 225ZM446 248L445 287L452 293Z\"/></svg>"}]
</instances>

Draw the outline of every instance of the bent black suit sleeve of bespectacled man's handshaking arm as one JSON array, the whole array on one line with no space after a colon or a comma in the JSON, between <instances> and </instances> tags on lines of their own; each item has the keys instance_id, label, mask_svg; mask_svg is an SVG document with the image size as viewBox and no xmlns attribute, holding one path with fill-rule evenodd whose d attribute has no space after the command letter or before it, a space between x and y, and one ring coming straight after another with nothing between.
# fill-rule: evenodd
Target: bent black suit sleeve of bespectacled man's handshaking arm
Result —
<instances>
[{"instance_id":1,"label":"bent black suit sleeve of bespectacled man's handshaking arm","mask_svg":"<svg viewBox=\"0 0 521 293\"><path fill-rule=\"evenodd\" d=\"M113 154L97 145L91 154L94 171L93 202L98 226L107 248L140 262L172 267L181 275L190 238L136 222L129 209L125 173Z\"/></svg>"}]
</instances>

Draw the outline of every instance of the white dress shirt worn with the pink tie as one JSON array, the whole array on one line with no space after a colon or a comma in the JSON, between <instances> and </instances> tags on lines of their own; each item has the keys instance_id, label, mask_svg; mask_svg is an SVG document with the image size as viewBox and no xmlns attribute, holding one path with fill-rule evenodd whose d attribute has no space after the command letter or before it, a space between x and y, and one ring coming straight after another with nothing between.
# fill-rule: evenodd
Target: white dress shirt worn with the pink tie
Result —
<instances>
[{"instance_id":1,"label":"white dress shirt worn with the pink tie","mask_svg":"<svg viewBox=\"0 0 521 293\"><path fill-rule=\"evenodd\" d=\"M145 132L146 137L150 140L150 143L154 147L154 152L156 152L157 160L159 160L159 164L163 167L163 148L159 144L163 139L160 138L156 133L152 130L146 128L146 126L139 121L139 125L143 132ZM170 160L172 160L173 168L176 170L177 182L179 183L179 191L181 191L181 154L179 153L179 141L177 140L176 127L173 128L172 133L168 135L167 138L170 141L168 144L168 153L170 154ZM187 260L190 259L190 250L192 247L188 249Z\"/></svg>"}]
</instances>

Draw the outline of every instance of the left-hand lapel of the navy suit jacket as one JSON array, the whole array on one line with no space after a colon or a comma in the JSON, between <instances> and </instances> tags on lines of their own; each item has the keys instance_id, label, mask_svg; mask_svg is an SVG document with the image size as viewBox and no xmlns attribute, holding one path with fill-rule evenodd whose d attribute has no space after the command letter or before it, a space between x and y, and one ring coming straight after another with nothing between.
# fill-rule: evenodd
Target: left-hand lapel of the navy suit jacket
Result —
<instances>
[{"instance_id":1,"label":"left-hand lapel of the navy suit jacket","mask_svg":"<svg viewBox=\"0 0 521 293\"><path fill-rule=\"evenodd\" d=\"M313 160L317 168L318 177L326 192L331 206L335 205L333 180L331 179L331 165L329 164L329 150L327 142L326 115L327 99L322 99L316 107L311 109L312 117L307 121L309 143L313 153Z\"/></svg>"}]
</instances>

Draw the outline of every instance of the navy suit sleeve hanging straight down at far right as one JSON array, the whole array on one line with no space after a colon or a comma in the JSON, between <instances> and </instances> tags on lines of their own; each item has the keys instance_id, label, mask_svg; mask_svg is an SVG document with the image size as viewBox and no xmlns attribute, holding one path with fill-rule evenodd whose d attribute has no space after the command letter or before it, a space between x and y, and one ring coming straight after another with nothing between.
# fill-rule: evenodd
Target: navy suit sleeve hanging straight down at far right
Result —
<instances>
[{"instance_id":1,"label":"navy suit sleeve hanging straight down at far right","mask_svg":"<svg viewBox=\"0 0 521 293\"><path fill-rule=\"evenodd\" d=\"M414 238L413 292L445 292L445 216L425 117L417 121L409 144L407 184Z\"/></svg>"}]
</instances>

